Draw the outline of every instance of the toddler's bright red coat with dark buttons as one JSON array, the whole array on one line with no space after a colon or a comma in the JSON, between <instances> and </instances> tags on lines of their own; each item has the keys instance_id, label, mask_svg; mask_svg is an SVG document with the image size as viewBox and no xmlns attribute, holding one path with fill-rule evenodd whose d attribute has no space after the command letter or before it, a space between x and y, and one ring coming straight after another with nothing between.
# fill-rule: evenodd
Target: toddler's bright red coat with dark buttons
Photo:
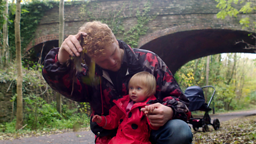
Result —
<instances>
[{"instance_id":1,"label":"toddler's bright red coat with dark buttons","mask_svg":"<svg viewBox=\"0 0 256 144\"><path fill-rule=\"evenodd\" d=\"M106 119L101 116L102 121L99 124L99 126L107 130L113 130L118 127L116 137L112 138L109 143L151 143L149 142L150 131L151 129L157 130L159 127L152 126L140 109L152 104L154 100L156 98L152 95L145 102L134 103L127 114L126 107L130 101L129 95L114 100L113 102L116 105L109 110L109 115L106 116Z\"/></svg>"}]
</instances>

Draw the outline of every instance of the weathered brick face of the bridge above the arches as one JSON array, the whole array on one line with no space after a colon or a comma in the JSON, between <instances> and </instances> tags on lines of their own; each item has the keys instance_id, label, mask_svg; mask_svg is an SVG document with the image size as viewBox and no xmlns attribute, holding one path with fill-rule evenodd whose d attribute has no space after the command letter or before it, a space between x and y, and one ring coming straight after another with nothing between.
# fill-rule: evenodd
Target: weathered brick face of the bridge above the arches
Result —
<instances>
[{"instance_id":1,"label":"weathered brick face of the bridge above the arches","mask_svg":"<svg viewBox=\"0 0 256 144\"><path fill-rule=\"evenodd\" d=\"M142 10L146 2L146 0L98 1L95 4L96 7L89 9L96 18L106 18L110 14L122 10L121 15L126 17L123 24L125 31L127 31L137 22L135 18L137 9ZM152 0L151 2L153 2L153 6L150 14L158 14L158 16L148 23L148 32L140 38L139 46L157 37L183 30L209 28L241 30L237 18L231 20L216 18L216 13L219 10L215 7L217 3L214 0ZM65 38L70 34L76 34L78 28L86 22L87 17L81 17L80 12L81 4L65 6ZM243 15L239 15L239 17L243 17ZM255 14L251 14L250 17L252 21L255 21ZM255 31L255 29L245 30ZM35 39L27 46L27 50L42 42L58 40L58 35L59 9L53 7L45 13L37 28ZM119 39L123 38L122 34L116 36Z\"/></svg>"}]
</instances>

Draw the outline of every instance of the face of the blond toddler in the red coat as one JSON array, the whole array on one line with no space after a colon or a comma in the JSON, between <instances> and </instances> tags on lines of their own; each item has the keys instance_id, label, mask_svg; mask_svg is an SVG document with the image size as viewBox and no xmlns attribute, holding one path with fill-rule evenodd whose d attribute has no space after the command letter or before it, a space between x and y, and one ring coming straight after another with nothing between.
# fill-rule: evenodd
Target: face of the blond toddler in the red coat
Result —
<instances>
[{"instance_id":1,"label":"face of the blond toddler in the red coat","mask_svg":"<svg viewBox=\"0 0 256 144\"><path fill-rule=\"evenodd\" d=\"M147 87L140 83L130 85L129 97L135 102L143 102L148 98L148 95L145 94L146 91Z\"/></svg>"}]
</instances>

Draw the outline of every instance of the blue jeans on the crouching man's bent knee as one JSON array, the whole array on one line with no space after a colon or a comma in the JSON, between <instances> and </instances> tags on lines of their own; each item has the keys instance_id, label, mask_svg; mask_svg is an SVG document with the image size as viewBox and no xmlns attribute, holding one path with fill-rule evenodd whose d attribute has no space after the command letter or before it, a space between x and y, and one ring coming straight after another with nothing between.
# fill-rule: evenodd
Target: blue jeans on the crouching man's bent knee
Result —
<instances>
[{"instance_id":1,"label":"blue jeans on the crouching man's bent knee","mask_svg":"<svg viewBox=\"0 0 256 144\"><path fill-rule=\"evenodd\" d=\"M192 143L192 139L189 125L180 119L172 119L158 130L152 130L149 138L151 143L157 144L188 144Z\"/></svg>"}]
</instances>

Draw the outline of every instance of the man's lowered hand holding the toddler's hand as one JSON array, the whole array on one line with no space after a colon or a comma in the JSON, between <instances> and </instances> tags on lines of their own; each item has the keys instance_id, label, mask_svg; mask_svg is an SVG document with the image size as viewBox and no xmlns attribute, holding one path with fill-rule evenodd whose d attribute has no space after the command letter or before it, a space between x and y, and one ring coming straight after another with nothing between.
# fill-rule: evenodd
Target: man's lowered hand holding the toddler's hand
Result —
<instances>
[{"instance_id":1,"label":"man's lowered hand holding the toddler's hand","mask_svg":"<svg viewBox=\"0 0 256 144\"><path fill-rule=\"evenodd\" d=\"M149 119L149 122L153 126L163 126L167 121L173 117L173 110L170 107L164 106L161 103L154 103L153 105L156 108L152 111L151 114L146 114L146 108L141 108L146 116Z\"/></svg>"}]
</instances>

